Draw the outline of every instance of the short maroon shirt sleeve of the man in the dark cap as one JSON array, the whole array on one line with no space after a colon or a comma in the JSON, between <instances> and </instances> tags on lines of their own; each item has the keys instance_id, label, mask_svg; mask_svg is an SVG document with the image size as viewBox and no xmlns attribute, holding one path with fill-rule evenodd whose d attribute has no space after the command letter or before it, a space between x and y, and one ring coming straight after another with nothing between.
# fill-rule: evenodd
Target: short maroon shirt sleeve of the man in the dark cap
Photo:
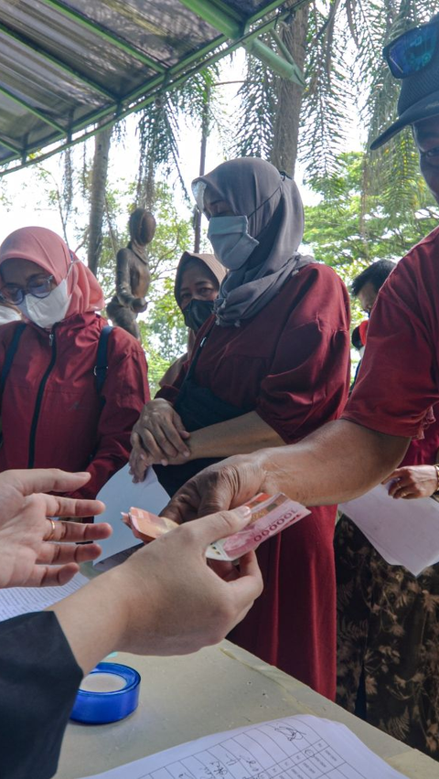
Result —
<instances>
[{"instance_id":1,"label":"short maroon shirt sleeve of the man in the dark cap","mask_svg":"<svg viewBox=\"0 0 439 779\"><path fill-rule=\"evenodd\" d=\"M381 287L370 317L359 378L343 419L404 438L423 437L439 400L435 356L436 283L423 282L423 247L402 260ZM425 258L427 260L428 258Z\"/></svg>"}]
</instances>

